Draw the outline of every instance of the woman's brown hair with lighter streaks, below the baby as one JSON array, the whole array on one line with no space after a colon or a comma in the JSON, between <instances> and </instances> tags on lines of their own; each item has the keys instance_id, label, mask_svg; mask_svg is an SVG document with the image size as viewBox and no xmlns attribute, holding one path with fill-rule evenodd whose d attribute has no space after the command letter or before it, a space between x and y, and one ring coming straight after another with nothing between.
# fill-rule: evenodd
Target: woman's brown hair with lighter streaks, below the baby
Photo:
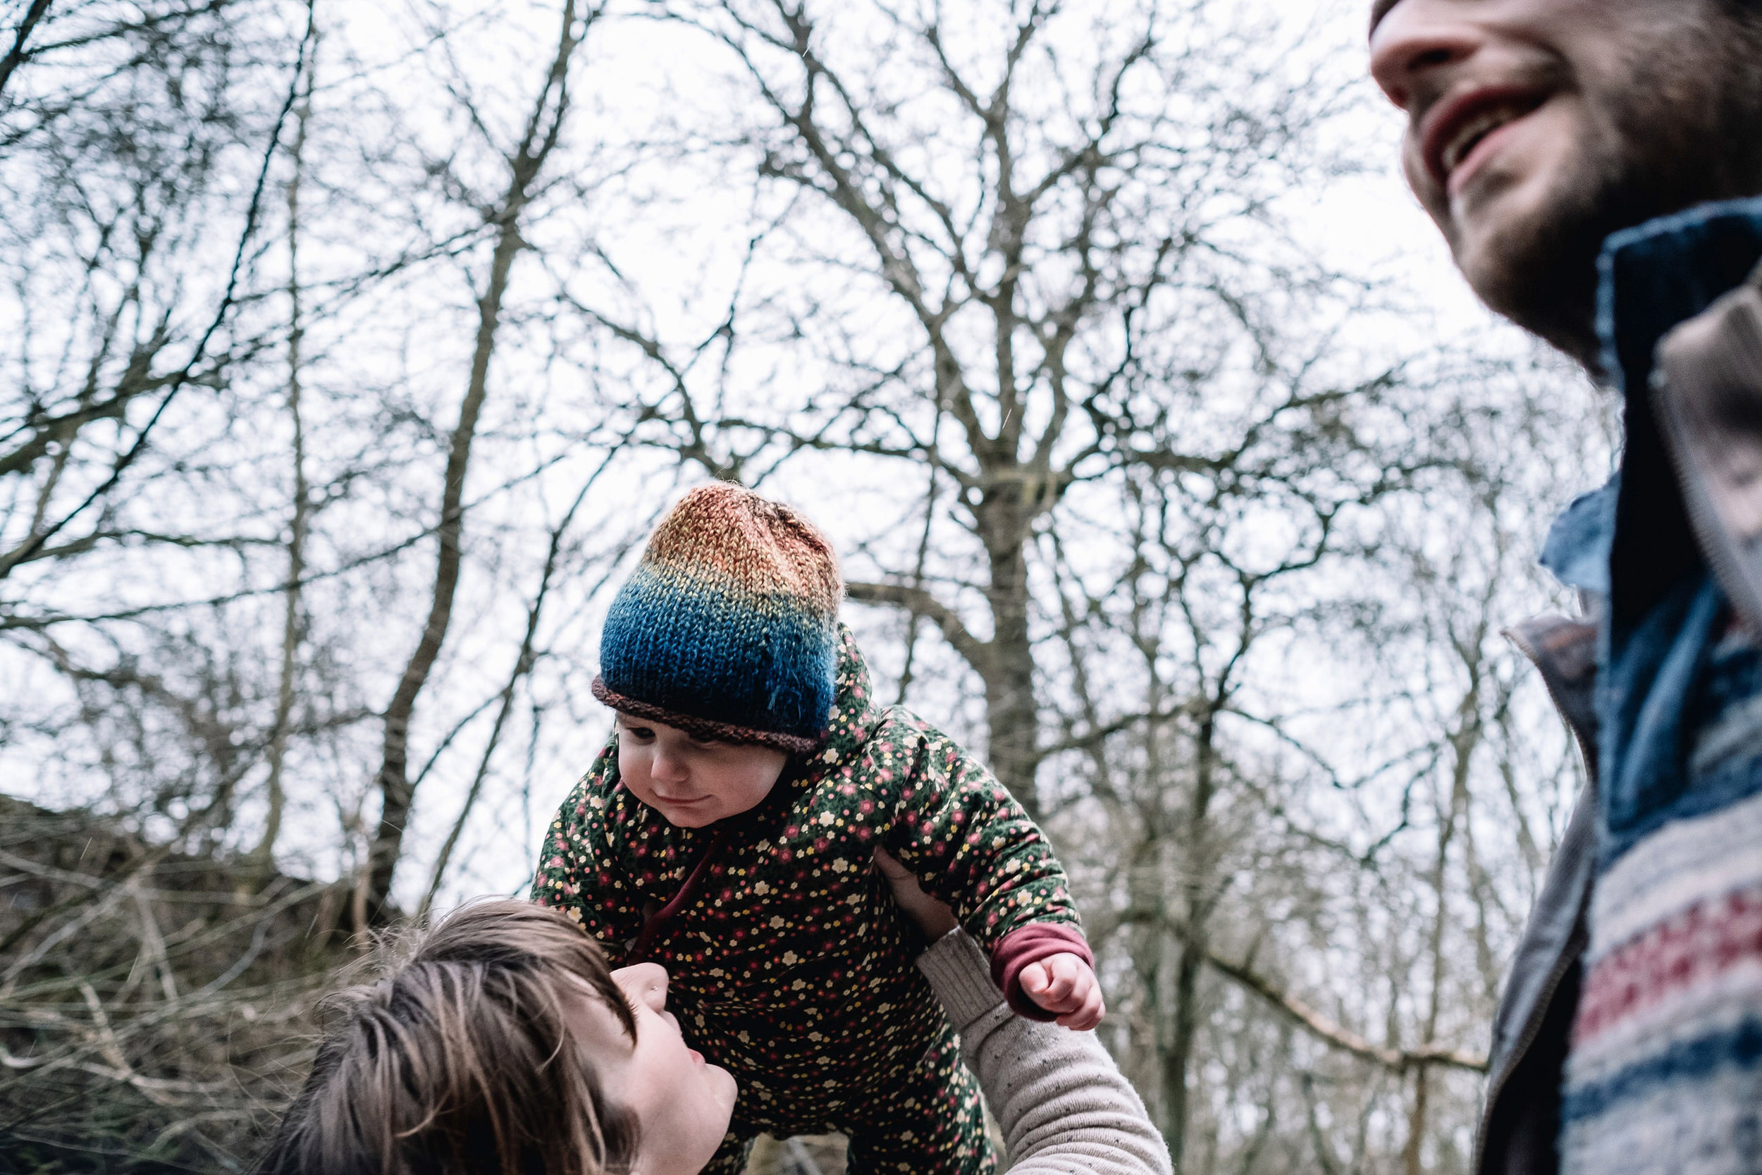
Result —
<instances>
[{"instance_id":1,"label":"woman's brown hair with lighter streaks, below the baby","mask_svg":"<svg viewBox=\"0 0 1762 1175\"><path fill-rule=\"evenodd\" d=\"M571 1029L571 1002L596 995L634 1041L606 957L564 914L507 900L456 911L384 979L326 1001L342 1020L259 1175L629 1171L638 1122L606 1099Z\"/></svg>"}]
</instances>

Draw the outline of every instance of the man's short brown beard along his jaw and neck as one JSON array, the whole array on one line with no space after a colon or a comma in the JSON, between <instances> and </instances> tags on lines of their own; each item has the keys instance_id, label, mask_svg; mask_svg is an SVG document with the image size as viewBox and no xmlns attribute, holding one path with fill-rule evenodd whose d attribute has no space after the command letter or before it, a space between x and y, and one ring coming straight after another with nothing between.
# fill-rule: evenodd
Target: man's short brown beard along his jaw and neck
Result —
<instances>
[{"instance_id":1,"label":"man's short brown beard along his jaw and neck","mask_svg":"<svg viewBox=\"0 0 1762 1175\"><path fill-rule=\"evenodd\" d=\"M1544 211L1507 225L1473 273L1496 312L1598 372L1596 257L1618 229L1762 194L1762 19L1704 16L1581 79L1589 125Z\"/></svg>"}]
</instances>

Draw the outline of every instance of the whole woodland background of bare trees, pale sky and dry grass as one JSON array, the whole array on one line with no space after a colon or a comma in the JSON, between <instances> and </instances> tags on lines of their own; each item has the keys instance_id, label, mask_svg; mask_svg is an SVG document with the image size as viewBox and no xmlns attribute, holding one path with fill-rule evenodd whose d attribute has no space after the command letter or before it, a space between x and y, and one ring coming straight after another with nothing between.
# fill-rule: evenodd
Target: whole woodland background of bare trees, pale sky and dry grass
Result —
<instances>
[{"instance_id":1,"label":"whole woodland background of bare trees, pale sky and dry grass","mask_svg":"<svg viewBox=\"0 0 1762 1175\"><path fill-rule=\"evenodd\" d=\"M0 1170L248 1168L733 477L1052 833L1181 1171L1464 1171L1581 770L1499 629L1612 430L1360 7L9 0Z\"/></svg>"}]
</instances>

